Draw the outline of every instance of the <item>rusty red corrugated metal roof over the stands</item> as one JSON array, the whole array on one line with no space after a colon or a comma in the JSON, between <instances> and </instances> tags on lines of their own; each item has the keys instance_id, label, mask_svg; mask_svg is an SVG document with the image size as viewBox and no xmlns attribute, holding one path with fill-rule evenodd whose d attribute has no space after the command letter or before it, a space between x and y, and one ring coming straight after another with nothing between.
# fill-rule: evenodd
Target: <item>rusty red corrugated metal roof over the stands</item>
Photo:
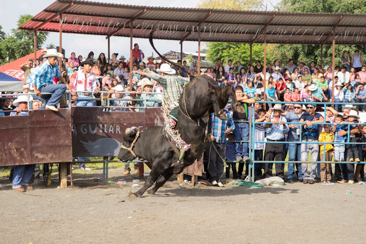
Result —
<instances>
[{"instance_id":1,"label":"rusty red corrugated metal roof over the stands","mask_svg":"<svg viewBox=\"0 0 366 244\"><path fill-rule=\"evenodd\" d=\"M164 8L57 0L19 29L135 38L293 44L366 43L366 15Z\"/></svg>"}]
</instances>

